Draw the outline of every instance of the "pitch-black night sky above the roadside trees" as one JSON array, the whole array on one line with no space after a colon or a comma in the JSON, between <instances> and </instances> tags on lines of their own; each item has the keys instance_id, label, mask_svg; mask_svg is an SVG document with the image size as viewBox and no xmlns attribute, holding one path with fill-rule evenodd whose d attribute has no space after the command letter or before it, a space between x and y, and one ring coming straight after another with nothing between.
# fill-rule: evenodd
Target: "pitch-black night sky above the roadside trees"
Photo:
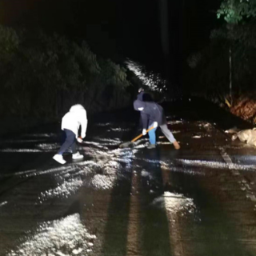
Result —
<instances>
[{"instance_id":1,"label":"pitch-black night sky above the roadside trees","mask_svg":"<svg viewBox=\"0 0 256 256\"><path fill-rule=\"evenodd\" d=\"M220 1L2 0L1 23L86 39L102 57L129 57L182 86L188 54L209 41ZM169 22L168 22L169 19ZM168 33L168 34L166 34Z\"/></svg>"}]
</instances>

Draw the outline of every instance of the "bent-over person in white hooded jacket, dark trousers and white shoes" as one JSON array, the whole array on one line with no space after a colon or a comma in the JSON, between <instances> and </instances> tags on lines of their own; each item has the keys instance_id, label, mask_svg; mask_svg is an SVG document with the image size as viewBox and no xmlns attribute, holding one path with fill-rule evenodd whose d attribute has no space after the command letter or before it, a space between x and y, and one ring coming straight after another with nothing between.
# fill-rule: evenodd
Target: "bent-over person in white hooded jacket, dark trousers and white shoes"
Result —
<instances>
[{"instance_id":1,"label":"bent-over person in white hooded jacket, dark trousers and white shoes","mask_svg":"<svg viewBox=\"0 0 256 256\"><path fill-rule=\"evenodd\" d=\"M64 115L62 118L62 130L66 133L66 141L62 144L58 154L54 155L54 160L61 163L62 165L66 163L63 159L63 153L71 147L72 158L81 159L83 158L82 154L79 154L76 146L76 140L78 138L78 130L81 126L81 137L86 137L87 129L87 116L86 110L82 105L71 106L70 111Z\"/></svg>"}]
</instances>

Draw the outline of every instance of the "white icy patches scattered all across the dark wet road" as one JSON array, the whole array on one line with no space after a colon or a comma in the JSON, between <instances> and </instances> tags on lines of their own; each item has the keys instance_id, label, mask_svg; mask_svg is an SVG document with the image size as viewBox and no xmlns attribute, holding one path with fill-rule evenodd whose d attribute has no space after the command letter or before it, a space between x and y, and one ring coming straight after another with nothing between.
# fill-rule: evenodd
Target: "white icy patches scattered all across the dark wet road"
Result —
<instances>
[{"instance_id":1,"label":"white icy patches scattered all across the dark wet road","mask_svg":"<svg viewBox=\"0 0 256 256\"><path fill-rule=\"evenodd\" d=\"M174 126L172 127L174 134L182 134L181 127L176 129L177 127L175 126L182 126L185 121L178 120L168 123ZM97 192L104 191L107 194L114 189L114 186L118 185L118 182L124 179L132 176L134 182L139 183L139 178L141 178L146 181L145 184L149 187L148 194L152 196L150 206L166 210L168 218L174 218L177 214L180 216L194 214L197 206L195 205L194 198L188 197L186 194L164 190L159 195L157 193L158 187L151 187L151 184L157 179L156 170L161 169L162 171L166 171L168 175L169 173L190 174L190 177L191 175L200 175L200 178L206 176L206 172L204 171L206 169L222 171L230 169L256 170L253 165L188 159L183 156L170 158L167 155L164 159L152 158L154 154L151 152L154 151L143 151L146 154L140 154L142 150L146 150L148 138L142 138L138 142L135 142L133 149L118 148L118 145L122 143L118 135L122 132L129 131L130 127L114 126L113 123L98 123L96 126L102 129L107 127L107 134L113 132L113 136L108 135L108 138L86 138L86 141L80 146L80 150L83 150L85 152L83 154L86 155L86 158L82 161L68 162L65 166L55 165L34 169L32 167L31 169L28 168L27 170L21 170L11 174L3 174L2 178L50 178L50 185L42 186L43 189L38 192L36 197L37 202L34 202L34 205L39 202L40 206L43 206L46 202L54 202L54 199L69 199L73 195L77 195L82 187ZM196 122L195 126L198 129L197 133L194 136L190 136L194 143L201 142L206 137L211 136L214 130L214 127L208 122ZM1 148L0 152L5 154L49 154L52 152L54 154L58 150L58 142L52 141L52 138L56 138L56 134L38 134L38 140L35 139L37 137L36 135L23 136L22 146L24 148L17 146L21 142L20 139L17 139L18 143L12 140L9 142L11 145ZM33 139L31 140L31 138ZM159 138L159 147L169 144L165 137L161 136ZM134 165L134 162L136 162L136 165ZM146 170L144 166L153 167L151 170ZM127 173L130 174L128 178L126 176ZM134 186L132 186L131 190L133 189ZM134 194L137 195L139 193L139 190L136 188ZM135 199L134 203L136 203ZM11 204L12 202L9 200L4 200L0 202L0 207L5 208ZM81 221L79 214L71 214L65 218L37 223L37 227L34 230L27 231L26 235L21 238L19 246L8 251L7 256L88 255L94 250L94 242L96 240L96 236L90 234L88 229L86 229L86 220Z\"/></svg>"}]
</instances>

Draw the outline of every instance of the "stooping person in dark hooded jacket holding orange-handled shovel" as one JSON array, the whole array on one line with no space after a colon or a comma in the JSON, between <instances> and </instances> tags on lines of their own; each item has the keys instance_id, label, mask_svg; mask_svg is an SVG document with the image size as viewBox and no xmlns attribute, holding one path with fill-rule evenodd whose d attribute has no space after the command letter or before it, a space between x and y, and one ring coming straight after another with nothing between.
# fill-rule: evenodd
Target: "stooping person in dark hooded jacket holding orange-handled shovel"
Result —
<instances>
[{"instance_id":1,"label":"stooping person in dark hooded jacket holding orange-handled shovel","mask_svg":"<svg viewBox=\"0 0 256 256\"><path fill-rule=\"evenodd\" d=\"M180 149L180 146L174 135L170 132L166 122L166 115L164 114L164 110L162 106L158 105L155 102L142 102L140 100L134 101L134 110L141 112L142 117L142 125L143 130L142 134L146 135L146 128L150 129L154 126L154 129L149 131L150 136L150 146L149 149L155 148L156 144L156 137L155 131L157 130L158 126L160 126L162 133L165 134L166 138L170 141L170 143L174 144L174 148L176 150Z\"/></svg>"}]
</instances>

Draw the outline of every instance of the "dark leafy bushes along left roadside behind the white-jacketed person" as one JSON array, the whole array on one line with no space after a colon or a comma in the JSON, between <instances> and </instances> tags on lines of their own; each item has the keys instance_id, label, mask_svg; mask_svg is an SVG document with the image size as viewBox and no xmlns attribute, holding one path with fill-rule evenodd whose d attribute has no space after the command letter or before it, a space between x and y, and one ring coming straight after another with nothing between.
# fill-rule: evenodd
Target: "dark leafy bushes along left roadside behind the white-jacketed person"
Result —
<instances>
[{"instance_id":1,"label":"dark leafy bushes along left roadside behind the white-jacketed person","mask_svg":"<svg viewBox=\"0 0 256 256\"><path fill-rule=\"evenodd\" d=\"M54 118L78 102L89 113L127 106L137 81L86 42L6 26L0 26L0 76L0 114L19 118Z\"/></svg>"}]
</instances>

